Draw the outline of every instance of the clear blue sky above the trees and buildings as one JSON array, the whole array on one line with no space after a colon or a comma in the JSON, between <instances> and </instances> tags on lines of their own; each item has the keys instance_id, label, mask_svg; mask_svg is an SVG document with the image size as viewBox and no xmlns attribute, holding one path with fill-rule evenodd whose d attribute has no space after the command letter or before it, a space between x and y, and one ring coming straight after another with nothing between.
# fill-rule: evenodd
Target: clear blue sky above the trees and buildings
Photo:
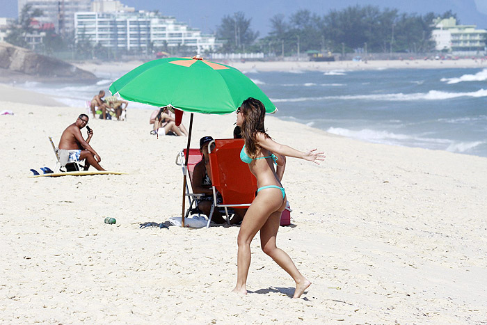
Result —
<instances>
[{"instance_id":1,"label":"clear blue sky above the trees and buildings","mask_svg":"<svg viewBox=\"0 0 487 325\"><path fill-rule=\"evenodd\" d=\"M462 24L477 24L487 29L487 0L121 0L136 10L159 10L163 15L175 16L204 32L216 31L224 15L243 11L252 18L252 28L260 36L269 32L269 19L278 13L289 17L299 9L324 15L331 9L346 6L373 5L397 8L403 13L444 13L452 10ZM17 17L17 0L0 0L0 17Z\"/></svg>"}]
</instances>

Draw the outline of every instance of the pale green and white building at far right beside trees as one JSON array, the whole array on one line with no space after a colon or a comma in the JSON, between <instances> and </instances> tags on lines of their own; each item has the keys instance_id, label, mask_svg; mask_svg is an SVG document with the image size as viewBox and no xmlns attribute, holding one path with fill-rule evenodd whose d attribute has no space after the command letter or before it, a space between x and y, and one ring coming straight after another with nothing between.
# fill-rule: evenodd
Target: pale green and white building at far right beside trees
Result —
<instances>
[{"instance_id":1,"label":"pale green and white building at far right beside trees","mask_svg":"<svg viewBox=\"0 0 487 325\"><path fill-rule=\"evenodd\" d=\"M476 25L457 25L454 17L437 18L431 38L436 42L436 50L448 51L456 55L476 55L486 51L487 31Z\"/></svg>"}]
</instances>

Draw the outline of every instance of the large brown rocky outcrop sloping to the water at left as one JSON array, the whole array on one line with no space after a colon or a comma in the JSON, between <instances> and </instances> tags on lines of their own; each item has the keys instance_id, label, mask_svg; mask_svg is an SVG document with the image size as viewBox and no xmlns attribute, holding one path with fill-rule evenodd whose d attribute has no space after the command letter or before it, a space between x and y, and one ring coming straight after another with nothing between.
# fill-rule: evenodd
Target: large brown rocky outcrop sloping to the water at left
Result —
<instances>
[{"instance_id":1,"label":"large brown rocky outcrop sloping to the water at left","mask_svg":"<svg viewBox=\"0 0 487 325\"><path fill-rule=\"evenodd\" d=\"M81 70L74 65L36 54L29 49L0 42L1 74L11 73L23 79L70 79L71 81L96 80L95 74ZM6 77L6 76L3 76ZM28 78L32 77L32 78ZM22 78L21 78L22 79Z\"/></svg>"}]
</instances>

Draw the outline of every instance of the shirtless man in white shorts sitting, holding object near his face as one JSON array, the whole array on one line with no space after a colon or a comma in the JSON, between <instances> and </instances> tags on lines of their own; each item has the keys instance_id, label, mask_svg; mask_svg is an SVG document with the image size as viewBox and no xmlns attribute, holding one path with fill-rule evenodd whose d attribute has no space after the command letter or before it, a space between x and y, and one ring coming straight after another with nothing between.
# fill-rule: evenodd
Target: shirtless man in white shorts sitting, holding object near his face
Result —
<instances>
[{"instance_id":1,"label":"shirtless man in white shorts sitting, holding object near his face","mask_svg":"<svg viewBox=\"0 0 487 325\"><path fill-rule=\"evenodd\" d=\"M58 155L61 165L65 165L65 162L69 160L85 160L85 171L88 171L90 165L97 168L98 171L104 171L102 166L99 166L99 162L102 161L102 158L99 157L99 154L91 145L89 145L91 138L93 137L93 130L88 129L88 137L86 141L83 139L81 135L81 129L86 127L88 124L88 116L86 114L81 114L78 116L76 122L72 125L67 127L63 134L61 134L61 140L59 141L58 145ZM65 161L61 161L65 160Z\"/></svg>"}]
</instances>

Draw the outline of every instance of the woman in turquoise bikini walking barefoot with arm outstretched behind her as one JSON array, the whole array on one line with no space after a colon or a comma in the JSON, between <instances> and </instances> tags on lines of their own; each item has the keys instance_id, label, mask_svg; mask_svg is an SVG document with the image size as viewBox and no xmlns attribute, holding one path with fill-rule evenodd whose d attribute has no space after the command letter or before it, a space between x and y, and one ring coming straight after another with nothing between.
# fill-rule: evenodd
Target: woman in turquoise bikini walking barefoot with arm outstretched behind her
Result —
<instances>
[{"instance_id":1,"label":"woman in turquoise bikini walking barefoot with arm outstretched behind her","mask_svg":"<svg viewBox=\"0 0 487 325\"><path fill-rule=\"evenodd\" d=\"M311 283L292 262L289 255L276 247L280 214L286 207L285 189L280 184L273 163L280 161L272 152L282 156L296 157L309 161L324 160L323 152L316 149L301 152L273 141L264 128L264 104L255 98L244 100L237 109L237 125L245 140L240 159L248 164L250 172L257 178L258 195L248 208L240 226L237 244L237 285L234 292L246 294L248 268L250 267L250 242L260 230L262 251L271 256L296 282L293 298L298 298Z\"/></svg>"}]
</instances>

